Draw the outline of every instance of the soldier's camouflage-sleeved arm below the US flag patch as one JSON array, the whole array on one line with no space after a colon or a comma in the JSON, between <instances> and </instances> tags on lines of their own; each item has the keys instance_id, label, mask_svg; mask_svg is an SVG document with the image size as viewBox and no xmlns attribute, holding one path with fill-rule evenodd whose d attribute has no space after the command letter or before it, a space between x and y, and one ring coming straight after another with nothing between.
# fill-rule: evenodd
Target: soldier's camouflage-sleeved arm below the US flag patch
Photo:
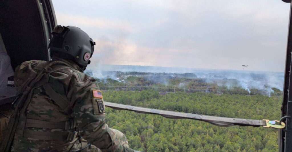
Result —
<instances>
[{"instance_id":1,"label":"soldier's camouflage-sleeved arm below the US flag patch","mask_svg":"<svg viewBox=\"0 0 292 152\"><path fill-rule=\"evenodd\" d=\"M126 137L121 132L108 127L105 123L103 100L94 97L98 88L93 84L79 90L72 100L73 115L77 120L81 137L103 152L133 152L128 148ZM103 107L102 107L103 106Z\"/></svg>"}]
</instances>

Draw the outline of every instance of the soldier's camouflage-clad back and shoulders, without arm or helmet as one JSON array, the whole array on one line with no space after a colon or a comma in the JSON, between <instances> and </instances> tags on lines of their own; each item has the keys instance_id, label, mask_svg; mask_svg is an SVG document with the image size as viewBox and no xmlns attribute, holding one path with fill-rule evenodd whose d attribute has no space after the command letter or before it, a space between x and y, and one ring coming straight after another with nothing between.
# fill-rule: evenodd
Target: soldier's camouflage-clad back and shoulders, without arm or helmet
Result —
<instances>
[{"instance_id":1,"label":"soldier's camouflage-clad back and shoulders, without arm or helmet","mask_svg":"<svg viewBox=\"0 0 292 152\"><path fill-rule=\"evenodd\" d=\"M21 87L22 83L30 79L29 76L32 75L30 73L32 70L29 69L40 63L48 64L45 61L22 63L16 69L18 71L15 73L15 85ZM73 90L78 85L84 85L83 80L89 77L62 62L54 63L50 68L54 72L44 75L35 84L31 96L28 97L29 101L26 101L26 106L20 109L26 115L24 117L26 120L18 125L11 151L51 151L53 149L69 151L72 146L78 147L81 144L76 142L77 137L74 136L77 135L72 133L77 130L76 122L70 115L70 108L60 106L64 104L60 102L68 102L67 106L70 106ZM50 91L50 89L53 90ZM73 145L74 142L75 145Z\"/></svg>"}]
</instances>

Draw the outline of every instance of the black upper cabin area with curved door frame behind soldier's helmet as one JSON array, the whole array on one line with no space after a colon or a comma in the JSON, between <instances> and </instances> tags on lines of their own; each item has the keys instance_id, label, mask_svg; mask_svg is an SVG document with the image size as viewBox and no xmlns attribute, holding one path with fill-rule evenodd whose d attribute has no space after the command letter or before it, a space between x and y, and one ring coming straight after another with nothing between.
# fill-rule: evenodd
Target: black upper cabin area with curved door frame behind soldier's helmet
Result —
<instances>
[{"instance_id":1,"label":"black upper cabin area with curved door frame behind soldier's helmet","mask_svg":"<svg viewBox=\"0 0 292 152\"><path fill-rule=\"evenodd\" d=\"M0 33L13 69L23 61L48 60L54 18L49 1L1 1Z\"/></svg>"}]
</instances>

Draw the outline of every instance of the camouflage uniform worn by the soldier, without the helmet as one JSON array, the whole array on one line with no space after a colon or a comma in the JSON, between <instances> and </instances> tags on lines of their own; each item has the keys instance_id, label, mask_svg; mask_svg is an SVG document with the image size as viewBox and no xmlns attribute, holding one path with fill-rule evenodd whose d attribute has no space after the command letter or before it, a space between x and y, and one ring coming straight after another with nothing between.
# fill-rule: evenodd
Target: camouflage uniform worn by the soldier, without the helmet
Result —
<instances>
[{"instance_id":1,"label":"camouflage uniform worn by the soldier, without the helmet","mask_svg":"<svg viewBox=\"0 0 292 152\"><path fill-rule=\"evenodd\" d=\"M55 72L40 80L46 79L47 87L57 94L49 94L44 84L35 84L29 104L21 109L25 110L26 120L20 116L11 151L67 152L87 147L88 151L96 152L132 152L125 135L105 123L103 99L93 95L93 90L99 90L96 80L81 73L76 63L57 60L60 61L50 66ZM38 64L47 62L26 61L16 68L18 89L30 77L28 69ZM56 96L68 101L69 106L58 105Z\"/></svg>"}]
</instances>

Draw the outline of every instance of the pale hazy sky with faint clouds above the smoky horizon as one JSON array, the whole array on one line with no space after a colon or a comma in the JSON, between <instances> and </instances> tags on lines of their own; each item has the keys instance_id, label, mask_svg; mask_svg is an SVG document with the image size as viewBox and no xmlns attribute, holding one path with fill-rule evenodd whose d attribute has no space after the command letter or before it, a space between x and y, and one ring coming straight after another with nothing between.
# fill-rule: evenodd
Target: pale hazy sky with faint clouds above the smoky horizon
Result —
<instances>
[{"instance_id":1,"label":"pale hazy sky with faint clouds above the smoky horizon","mask_svg":"<svg viewBox=\"0 0 292 152\"><path fill-rule=\"evenodd\" d=\"M101 64L284 72L289 3L281 0L53 0L58 25L96 41Z\"/></svg>"}]
</instances>

